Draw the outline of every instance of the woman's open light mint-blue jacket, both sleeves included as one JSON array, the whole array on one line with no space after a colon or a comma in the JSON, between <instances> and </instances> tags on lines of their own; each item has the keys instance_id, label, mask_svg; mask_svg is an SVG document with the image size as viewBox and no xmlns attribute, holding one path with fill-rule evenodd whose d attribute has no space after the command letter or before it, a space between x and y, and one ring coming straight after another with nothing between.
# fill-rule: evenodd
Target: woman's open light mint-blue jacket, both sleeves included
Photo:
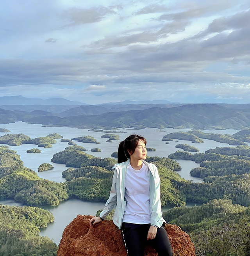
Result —
<instances>
[{"instance_id":1,"label":"woman's open light mint-blue jacket, both sleeves included","mask_svg":"<svg viewBox=\"0 0 250 256\"><path fill-rule=\"evenodd\" d=\"M165 220L162 218L161 212L161 199L160 199L160 178L158 174L157 167L153 163L148 163L142 160L143 163L149 168L149 202L150 202L150 212L151 212L151 225L156 227L161 227ZM123 163L116 163L114 165L114 175L112 180L112 187L109 194L109 199L107 200L104 210L100 213L100 217L105 219L105 217L115 208L113 222L121 229L122 218L125 211L126 200L125 194L125 175L130 160Z\"/></svg>"}]
</instances>

